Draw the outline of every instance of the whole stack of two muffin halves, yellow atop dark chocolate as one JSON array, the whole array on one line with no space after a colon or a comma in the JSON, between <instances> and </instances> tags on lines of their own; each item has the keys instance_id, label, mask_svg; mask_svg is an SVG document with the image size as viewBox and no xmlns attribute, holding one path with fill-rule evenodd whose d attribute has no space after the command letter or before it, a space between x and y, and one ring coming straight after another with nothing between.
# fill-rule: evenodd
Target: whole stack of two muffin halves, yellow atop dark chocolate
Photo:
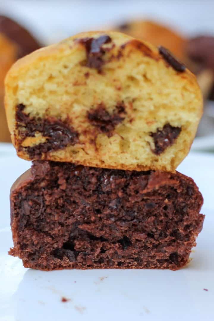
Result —
<instances>
[{"instance_id":1,"label":"whole stack of two muffin halves, yellow atop dark chocolate","mask_svg":"<svg viewBox=\"0 0 214 321\"><path fill-rule=\"evenodd\" d=\"M202 98L166 48L81 33L17 61L5 90L13 144L33 160L11 189L11 255L41 270L188 262L203 199L175 170Z\"/></svg>"}]
</instances>

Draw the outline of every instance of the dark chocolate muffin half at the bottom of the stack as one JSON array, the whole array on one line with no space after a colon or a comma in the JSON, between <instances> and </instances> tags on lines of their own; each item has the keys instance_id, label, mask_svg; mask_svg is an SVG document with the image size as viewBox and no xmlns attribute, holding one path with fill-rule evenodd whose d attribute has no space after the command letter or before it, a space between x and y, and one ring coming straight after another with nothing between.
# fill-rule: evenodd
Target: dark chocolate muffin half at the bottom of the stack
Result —
<instances>
[{"instance_id":1,"label":"dark chocolate muffin half at the bottom of the stack","mask_svg":"<svg viewBox=\"0 0 214 321\"><path fill-rule=\"evenodd\" d=\"M40 270L176 270L204 220L198 187L178 172L34 161L10 198L9 254Z\"/></svg>"}]
</instances>

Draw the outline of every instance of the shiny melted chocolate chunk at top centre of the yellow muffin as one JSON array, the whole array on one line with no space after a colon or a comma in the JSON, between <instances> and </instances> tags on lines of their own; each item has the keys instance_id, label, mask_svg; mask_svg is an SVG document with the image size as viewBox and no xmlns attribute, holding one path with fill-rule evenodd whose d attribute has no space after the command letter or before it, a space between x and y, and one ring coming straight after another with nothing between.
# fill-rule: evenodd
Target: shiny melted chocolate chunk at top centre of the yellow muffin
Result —
<instances>
[{"instance_id":1,"label":"shiny melted chocolate chunk at top centre of the yellow muffin","mask_svg":"<svg viewBox=\"0 0 214 321\"><path fill-rule=\"evenodd\" d=\"M95 68L98 71L100 71L102 65L104 64L102 56L106 52L106 50L102 48L102 45L111 42L111 38L108 35L103 35L96 39L82 38L77 39L77 41L83 44L86 48L86 66L90 68Z\"/></svg>"}]
</instances>

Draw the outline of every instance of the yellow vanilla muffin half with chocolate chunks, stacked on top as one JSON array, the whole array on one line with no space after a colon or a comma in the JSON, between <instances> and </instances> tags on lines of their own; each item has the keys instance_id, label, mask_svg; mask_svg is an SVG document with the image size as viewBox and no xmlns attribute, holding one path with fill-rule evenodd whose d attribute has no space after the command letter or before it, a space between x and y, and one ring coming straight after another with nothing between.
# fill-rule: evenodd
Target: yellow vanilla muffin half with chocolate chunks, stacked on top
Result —
<instances>
[{"instance_id":1,"label":"yellow vanilla muffin half with chocolate chunks, stacked on top","mask_svg":"<svg viewBox=\"0 0 214 321\"><path fill-rule=\"evenodd\" d=\"M94 31L17 61L5 108L23 159L174 171L195 136L202 96L167 49Z\"/></svg>"}]
</instances>

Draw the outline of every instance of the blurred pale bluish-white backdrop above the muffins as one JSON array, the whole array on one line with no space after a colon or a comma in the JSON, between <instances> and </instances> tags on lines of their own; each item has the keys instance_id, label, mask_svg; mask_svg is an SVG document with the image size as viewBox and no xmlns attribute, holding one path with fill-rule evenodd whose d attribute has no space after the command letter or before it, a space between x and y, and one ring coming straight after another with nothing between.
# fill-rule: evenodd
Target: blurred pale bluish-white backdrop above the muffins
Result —
<instances>
[{"instance_id":1,"label":"blurred pale bluish-white backdrop above the muffins","mask_svg":"<svg viewBox=\"0 0 214 321\"><path fill-rule=\"evenodd\" d=\"M214 34L212 0L1 0L0 12L46 44L132 18L162 22L187 36Z\"/></svg>"}]
</instances>

